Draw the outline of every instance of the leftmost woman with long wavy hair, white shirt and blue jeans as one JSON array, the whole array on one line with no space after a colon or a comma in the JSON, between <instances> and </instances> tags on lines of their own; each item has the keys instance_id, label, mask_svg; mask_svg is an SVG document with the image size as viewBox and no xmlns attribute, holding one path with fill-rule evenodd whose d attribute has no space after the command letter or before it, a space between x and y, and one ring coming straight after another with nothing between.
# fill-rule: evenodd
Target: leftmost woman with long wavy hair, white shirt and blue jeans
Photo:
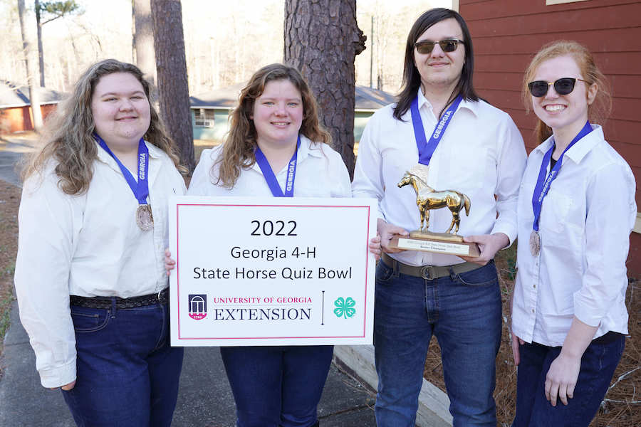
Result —
<instances>
[{"instance_id":1,"label":"leftmost woman with long wavy hair, white shirt and blue jeans","mask_svg":"<svg viewBox=\"0 0 641 427\"><path fill-rule=\"evenodd\" d=\"M91 65L24 172L20 318L78 426L170 426L176 404L163 249L186 189L149 98L135 65Z\"/></svg>"}]
</instances>

